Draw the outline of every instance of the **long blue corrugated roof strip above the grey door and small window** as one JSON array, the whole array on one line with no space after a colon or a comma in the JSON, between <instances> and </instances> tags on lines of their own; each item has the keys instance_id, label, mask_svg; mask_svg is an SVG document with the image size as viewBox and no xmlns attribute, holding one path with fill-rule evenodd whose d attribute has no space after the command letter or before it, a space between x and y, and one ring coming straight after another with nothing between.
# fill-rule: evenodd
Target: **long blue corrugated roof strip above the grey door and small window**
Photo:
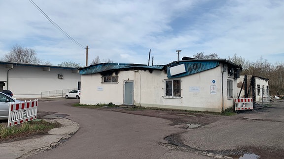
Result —
<instances>
[{"instance_id":1,"label":"long blue corrugated roof strip above the grey door and small window","mask_svg":"<svg viewBox=\"0 0 284 159\"><path fill-rule=\"evenodd\" d=\"M165 65L147 66L142 64L127 64L127 63L100 63L96 65L91 65L89 67L81 68L80 74L96 74L105 71L115 71L115 70L162 70Z\"/></svg>"}]
</instances>

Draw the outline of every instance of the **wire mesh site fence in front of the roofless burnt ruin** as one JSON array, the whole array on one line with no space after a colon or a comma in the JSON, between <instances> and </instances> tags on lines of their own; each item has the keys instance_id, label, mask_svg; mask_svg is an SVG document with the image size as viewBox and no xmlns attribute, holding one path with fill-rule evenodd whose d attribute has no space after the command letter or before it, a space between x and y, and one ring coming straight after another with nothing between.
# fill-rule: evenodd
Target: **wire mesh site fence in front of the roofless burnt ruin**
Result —
<instances>
[{"instance_id":1,"label":"wire mesh site fence in front of the roofless burnt ruin","mask_svg":"<svg viewBox=\"0 0 284 159\"><path fill-rule=\"evenodd\" d=\"M265 88L249 88L249 98L253 98L254 102L260 105L270 104L269 90Z\"/></svg>"}]
</instances>

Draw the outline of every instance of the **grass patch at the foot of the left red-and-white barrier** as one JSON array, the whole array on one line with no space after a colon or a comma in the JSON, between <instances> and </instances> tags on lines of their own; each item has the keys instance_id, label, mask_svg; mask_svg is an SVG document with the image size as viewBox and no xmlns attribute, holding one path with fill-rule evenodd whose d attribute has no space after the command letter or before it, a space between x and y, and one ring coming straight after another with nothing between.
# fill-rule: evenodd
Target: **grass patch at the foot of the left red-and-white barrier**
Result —
<instances>
[{"instance_id":1,"label":"grass patch at the foot of the left red-and-white barrier","mask_svg":"<svg viewBox=\"0 0 284 159\"><path fill-rule=\"evenodd\" d=\"M25 122L12 127L7 127L7 123L3 123L0 124L0 141L16 137L27 137L34 134L43 134L60 126L60 123L49 123L42 119Z\"/></svg>"}]
</instances>

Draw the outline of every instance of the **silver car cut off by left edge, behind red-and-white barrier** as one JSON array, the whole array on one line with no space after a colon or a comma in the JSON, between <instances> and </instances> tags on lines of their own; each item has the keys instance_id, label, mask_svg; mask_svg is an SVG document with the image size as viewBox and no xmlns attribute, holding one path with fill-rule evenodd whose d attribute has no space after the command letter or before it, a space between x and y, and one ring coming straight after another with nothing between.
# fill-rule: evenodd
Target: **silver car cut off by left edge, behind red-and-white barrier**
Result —
<instances>
[{"instance_id":1,"label":"silver car cut off by left edge, behind red-and-white barrier","mask_svg":"<svg viewBox=\"0 0 284 159\"><path fill-rule=\"evenodd\" d=\"M15 100L8 95L0 92L0 120L8 119L10 104L14 102L21 103L23 101Z\"/></svg>"}]
</instances>

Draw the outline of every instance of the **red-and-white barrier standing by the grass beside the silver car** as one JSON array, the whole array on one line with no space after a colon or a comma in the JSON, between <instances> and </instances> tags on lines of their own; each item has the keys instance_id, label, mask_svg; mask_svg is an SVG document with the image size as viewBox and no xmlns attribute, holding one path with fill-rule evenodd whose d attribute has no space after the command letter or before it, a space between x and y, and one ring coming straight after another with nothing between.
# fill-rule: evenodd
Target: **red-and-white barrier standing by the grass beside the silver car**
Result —
<instances>
[{"instance_id":1,"label":"red-and-white barrier standing by the grass beside the silver car","mask_svg":"<svg viewBox=\"0 0 284 159\"><path fill-rule=\"evenodd\" d=\"M36 119L37 99L10 104L8 127Z\"/></svg>"}]
</instances>

